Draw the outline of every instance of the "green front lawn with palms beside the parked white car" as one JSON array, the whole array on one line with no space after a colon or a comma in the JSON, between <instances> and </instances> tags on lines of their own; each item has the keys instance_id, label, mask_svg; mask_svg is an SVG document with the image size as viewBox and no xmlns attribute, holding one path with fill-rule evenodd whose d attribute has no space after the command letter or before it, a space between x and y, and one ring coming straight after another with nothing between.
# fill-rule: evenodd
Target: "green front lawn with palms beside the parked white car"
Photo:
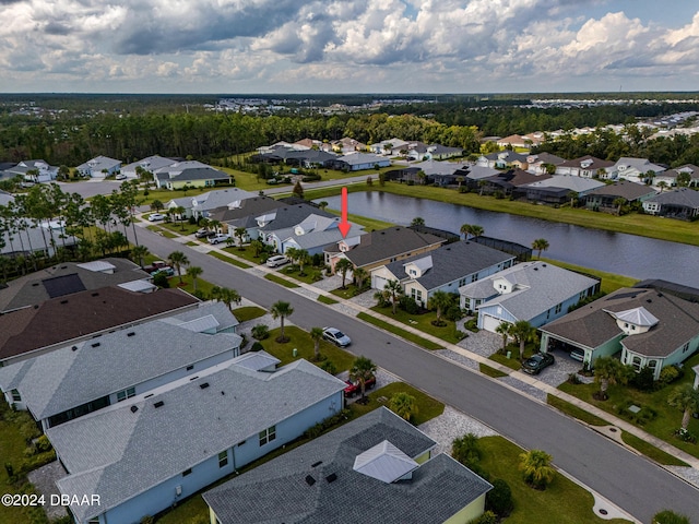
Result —
<instances>
[{"instance_id":1,"label":"green front lawn with palms beside the parked white car","mask_svg":"<svg viewBox=\"0 0 699 524\"><path fill-rule=\"evenodd\" d=\"M293 320L293 317L289 320ZM291 338L285 344L280 344L275 341L279 334L279 327L270 330L270 336L262 341L262 346L265 352L279 358L282 361L282 366L299 358L305 358L310 362L313 361L315 343L307 332L295 325L285 325L284 334ZM294 357L294 348L297 350L296 357ZM325 360L330 360L335 366L337 372L350 369L356 358L354 355L325 341L320 342L320 354L325 357ZM323 361L313 364L322 365Z\"/></svg>"}]
</instances>

